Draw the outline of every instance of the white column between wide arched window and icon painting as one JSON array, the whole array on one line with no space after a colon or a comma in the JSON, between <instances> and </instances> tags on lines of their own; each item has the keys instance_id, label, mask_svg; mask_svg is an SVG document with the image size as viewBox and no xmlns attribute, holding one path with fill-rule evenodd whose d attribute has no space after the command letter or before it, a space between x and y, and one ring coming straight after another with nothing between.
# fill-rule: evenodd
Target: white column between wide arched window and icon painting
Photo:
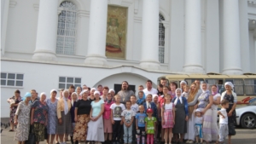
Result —
<instances>
[{"instance_id":1,"label":"white column between wide arched window and icon painting","mask_svg":"<svg viewBox=\"0 0 256 144\"><path fill-rule=\"evenodd\" d=\"M90 26L88 52L84 63L87 65L105 66L106 33L107 33L107 0L90 1Z\"/></svg>"}]
</instances>

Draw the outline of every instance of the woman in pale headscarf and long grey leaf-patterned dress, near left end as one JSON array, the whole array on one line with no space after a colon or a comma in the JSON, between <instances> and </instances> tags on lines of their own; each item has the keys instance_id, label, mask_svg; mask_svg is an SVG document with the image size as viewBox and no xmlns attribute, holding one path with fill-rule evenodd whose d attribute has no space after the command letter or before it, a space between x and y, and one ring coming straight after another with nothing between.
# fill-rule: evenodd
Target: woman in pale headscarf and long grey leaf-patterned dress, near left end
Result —
<instances>
[{"instance_id":1,"label":"woman in pale headscarf and long grey leaf-patterned dress, near left end","mask_svg":"<svg viewBox=\"0 0 256 144\"><path fill-rule=\"evenodd\" d=\"M24 96L24 101L19 103L15 112L15 125L18 124L15 140L18 141L18 144L25 144L25 141L28 140L31 110L30 100L31 93L27 92Z\"/></svg>"}]
</instances>

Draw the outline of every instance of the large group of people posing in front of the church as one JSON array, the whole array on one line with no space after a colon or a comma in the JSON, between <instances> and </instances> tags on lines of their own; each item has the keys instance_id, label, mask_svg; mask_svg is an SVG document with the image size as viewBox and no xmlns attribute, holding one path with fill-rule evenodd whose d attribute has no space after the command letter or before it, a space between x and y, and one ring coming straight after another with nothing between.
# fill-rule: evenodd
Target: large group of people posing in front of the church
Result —
<instances>
[{"instance_id":1,"label":"large group of people posing in front of the church","mask_svg":"<svg viewBox=\"0 0 256 144\"><path fill-rule=\"evenodd\" d=\"M236 124L237 101L233 84L226 82L226 90L220 95L218 85L212 85L210 92L208 84L199 80L190 86L181 81L180 88L174 82L166 83L162 78L154 89L148 80L145 89L138 86L137 95L126 81L117 94L102 85L97 89L72 85L61 89L59 98L57 90L52 89L49 99L45 93L37 97L35 89L21 98L16 90L15 96L8 100L10 123L17 124L15 140L18 144L25 143L32 131L37 144L44 141L45 132L48 144L54 140L64 144L68 136L72 144L85 141L95 144L216 141L218 144L224 143L227 135L231 144L233 134L229 129Z\"/></svg>"}]
</instances>

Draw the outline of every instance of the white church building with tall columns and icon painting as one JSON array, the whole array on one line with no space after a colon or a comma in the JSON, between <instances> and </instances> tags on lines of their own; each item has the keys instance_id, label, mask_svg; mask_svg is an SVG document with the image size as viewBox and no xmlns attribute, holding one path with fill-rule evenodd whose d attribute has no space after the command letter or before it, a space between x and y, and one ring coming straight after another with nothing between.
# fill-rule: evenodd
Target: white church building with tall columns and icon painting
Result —
<instances>
[{"instance_id":1,"label":"white church building with tall columns and icon painting","mask_svg":"<svg viewBox=\"0 0 256 144\"><path fill-rule=\"evenodd\" d=\"M255 38L256 0L1 0L2 117L15 89L256 73Z\"/></svg>"}]
</instances>

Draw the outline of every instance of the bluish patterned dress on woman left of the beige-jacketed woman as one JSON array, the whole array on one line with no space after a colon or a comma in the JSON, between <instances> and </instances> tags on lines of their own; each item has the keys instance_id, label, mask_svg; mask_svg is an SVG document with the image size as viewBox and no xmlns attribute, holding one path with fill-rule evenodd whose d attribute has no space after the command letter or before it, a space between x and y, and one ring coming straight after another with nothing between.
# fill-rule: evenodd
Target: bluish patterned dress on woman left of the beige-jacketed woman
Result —
<instances>
[{"instance_id":1,"label":"bluish patterned dress on woman left of the beige-jacketed woman","mask_svg":"<svg viewBox=\"0 0 256 144\"><path fill-rule=\"evenodd\" d=\"M56 134L56 126L57 126L57 104L58 100L55 99L55 102L52 103L50 99L46 101L46 104L49 108L48 113L48 124L47 124L47 133L49 135L55 135Z\"/></svg>"}]
</instances>

